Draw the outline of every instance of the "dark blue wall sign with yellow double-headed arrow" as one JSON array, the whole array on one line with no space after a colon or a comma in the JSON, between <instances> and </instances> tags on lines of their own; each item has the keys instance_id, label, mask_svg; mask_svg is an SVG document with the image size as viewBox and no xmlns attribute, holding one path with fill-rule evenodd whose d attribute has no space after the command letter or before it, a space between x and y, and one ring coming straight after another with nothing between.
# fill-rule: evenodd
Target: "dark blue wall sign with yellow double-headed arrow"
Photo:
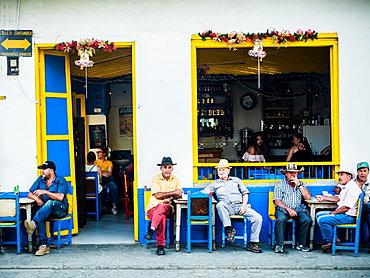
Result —
<instances>
[{"instance_id":1,"label":"dark blue wall sign with yellow double-headed arrow","mask_svg":"<svg viewBox=\"0 0 370 278\"><path fill-rule=\"evenodd\" d=\"M0 30L0 56L32 57L32 30Z\"/></svg>"}]
</instances>

